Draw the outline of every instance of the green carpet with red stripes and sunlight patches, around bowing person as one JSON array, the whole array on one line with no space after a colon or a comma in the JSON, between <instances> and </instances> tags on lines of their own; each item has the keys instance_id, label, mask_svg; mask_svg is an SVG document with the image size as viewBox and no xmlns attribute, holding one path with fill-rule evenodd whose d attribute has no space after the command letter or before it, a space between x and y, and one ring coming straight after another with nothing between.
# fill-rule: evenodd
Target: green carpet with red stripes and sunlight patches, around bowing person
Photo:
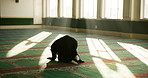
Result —
<instances>
[{"instance_id":1,"label":"green carpet with red stripes and sunlight patches, around bowing person","mask_svg":"<svg viewBox=\"0 0 148 78\"><path fill-rule=\"evenodd\" d=\"M78 41L85 63L46 59L52 42L64 34ZM0 78L148 78L147 49L148 40L51 29L0 30Z\"/></svg>"}]
</instances>

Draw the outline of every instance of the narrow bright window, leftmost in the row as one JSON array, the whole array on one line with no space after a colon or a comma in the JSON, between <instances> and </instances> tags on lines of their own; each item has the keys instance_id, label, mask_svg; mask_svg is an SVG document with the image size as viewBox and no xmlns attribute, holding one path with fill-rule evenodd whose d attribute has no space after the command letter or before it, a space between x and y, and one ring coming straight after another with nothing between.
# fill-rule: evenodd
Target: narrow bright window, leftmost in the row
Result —
<instances>
[{"instance_id":1,"label":"narrow bright window, leftmost in the row","mask_svg":"<svg viewBox=\"0 0 148 78\"><path fill-rule=\"evenodd\" d=\"M47 17L58 16L58 0L48 0L47 2Z\"/></svg>"}]
</instances>

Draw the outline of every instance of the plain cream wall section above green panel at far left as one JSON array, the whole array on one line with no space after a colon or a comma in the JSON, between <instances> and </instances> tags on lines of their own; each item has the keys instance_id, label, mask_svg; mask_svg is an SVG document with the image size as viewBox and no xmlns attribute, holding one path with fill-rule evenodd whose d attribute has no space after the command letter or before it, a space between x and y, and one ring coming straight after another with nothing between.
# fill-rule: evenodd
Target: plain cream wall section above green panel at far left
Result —
<instances>
[{"instance_id":1,"label":"plain cream wall section above green panel at far left","mask_svg":"<svg viewBox=\"0 0 148 78\"><path fill-rule=\"evenodd\" d=\"M33 18L33 0L1 0L2 18Z\"/></svg>"}]
</instances>

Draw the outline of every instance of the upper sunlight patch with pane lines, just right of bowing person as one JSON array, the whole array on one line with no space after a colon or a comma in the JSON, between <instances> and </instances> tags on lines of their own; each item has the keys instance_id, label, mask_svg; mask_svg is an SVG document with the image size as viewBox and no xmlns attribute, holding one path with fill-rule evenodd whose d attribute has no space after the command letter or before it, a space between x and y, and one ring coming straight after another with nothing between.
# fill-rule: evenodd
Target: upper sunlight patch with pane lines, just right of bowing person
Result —
<instances>
[{"instance_id":1,"label":"upper sunlight patch with pane lines, just right of bowing person","mask_svg":"<svg viewBox=\"0 0 148 78\"><path fill-rule=\"evenodd\" d=\"M101 39L86 38L90 54L93 56L99 56L108 60L121 61L114 52L106 45L106 43Z\"/></svg>"}]
</instances>

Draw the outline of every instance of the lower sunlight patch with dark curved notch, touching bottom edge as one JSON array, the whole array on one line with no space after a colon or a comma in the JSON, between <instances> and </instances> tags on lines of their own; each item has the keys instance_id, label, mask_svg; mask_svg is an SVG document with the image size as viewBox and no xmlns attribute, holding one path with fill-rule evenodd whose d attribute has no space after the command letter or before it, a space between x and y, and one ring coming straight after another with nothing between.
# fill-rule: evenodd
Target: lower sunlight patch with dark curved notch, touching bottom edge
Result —
<instances>
[{"instance_id":1,"label":"lower sunlight patch with dark curved notch, touching bottom edge","mask_svg":"<svg viewBox=\"0 0 148 78\"><path fill-rule=\"evenodd\" d=\"M109 68L100 58L92 58L103 78L136 78L126 65L115 63L116 70Z\"/></svg>"}]
</instances>

